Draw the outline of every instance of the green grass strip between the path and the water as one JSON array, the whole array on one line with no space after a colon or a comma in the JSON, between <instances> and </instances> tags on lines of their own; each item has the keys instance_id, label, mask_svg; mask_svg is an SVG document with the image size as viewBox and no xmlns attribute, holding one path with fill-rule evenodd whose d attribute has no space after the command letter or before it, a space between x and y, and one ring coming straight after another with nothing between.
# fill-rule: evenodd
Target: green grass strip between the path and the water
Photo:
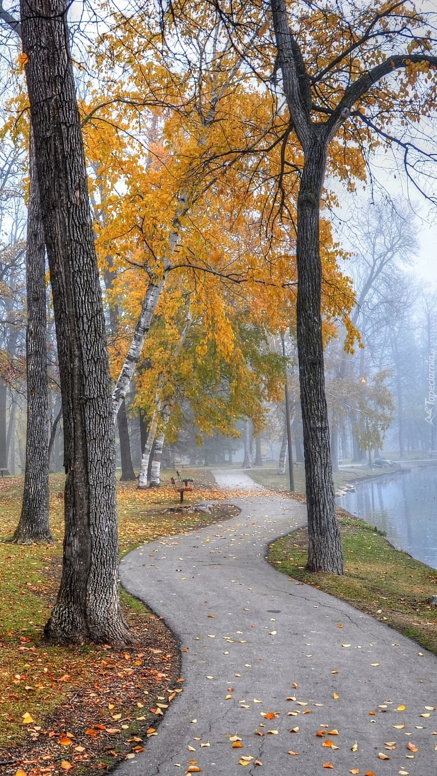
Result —
<instances>
[{"instance_id":1,"label":"green grass strip between the path and the water","mask_svg":"<svg viewBox=\"0 0 437 776\"><path fill-rule=\"evenodd\" d=\"M344 576L305 570L308 532L299 528L273 542L268 559L296 580L348 601L437 655L437 571L393 547L376 528L338 510Z\"/></svg>"}]
</instances>

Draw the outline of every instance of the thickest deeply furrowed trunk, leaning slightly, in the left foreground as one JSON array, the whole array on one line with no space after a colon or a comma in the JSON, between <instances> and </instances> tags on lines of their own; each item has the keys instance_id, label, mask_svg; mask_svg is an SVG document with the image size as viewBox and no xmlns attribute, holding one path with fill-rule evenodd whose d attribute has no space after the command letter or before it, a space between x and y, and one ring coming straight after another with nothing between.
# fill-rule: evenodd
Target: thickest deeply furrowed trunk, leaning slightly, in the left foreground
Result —
<instances>
[{"instance_id":1,"label":"thickest deeply furrowed trunk, leaning slightly, in the left foreground","mask_svg":"<svg viewBox=\"0 0 437 776\"><path fill-rule=\"evenodd\" d=\"M114 420L66 6L21 0L23 50L58 340L65 539L49 639L129 639L118 591Z\"/></svg>"}]
</instances>

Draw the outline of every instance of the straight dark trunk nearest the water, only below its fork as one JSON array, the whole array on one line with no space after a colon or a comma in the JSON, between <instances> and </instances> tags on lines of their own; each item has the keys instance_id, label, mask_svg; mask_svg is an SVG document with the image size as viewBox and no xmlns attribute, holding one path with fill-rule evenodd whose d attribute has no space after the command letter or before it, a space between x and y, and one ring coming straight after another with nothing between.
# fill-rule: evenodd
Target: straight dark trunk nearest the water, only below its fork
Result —
<instances>
[{"instance_id":1,"label":"straight dark trunk nearest the water, only below its fork","mask_svg":"<svg viewBox=\"0 0 437 776\"><path fill-rule=\"evenodd\" d=\"M330 461L322 318L319 212L326 165L326 141L314 133L306 148L298 197L297 346L305 450L309 571L343 573L340 530Z\"/></svg>"}]
</instances>

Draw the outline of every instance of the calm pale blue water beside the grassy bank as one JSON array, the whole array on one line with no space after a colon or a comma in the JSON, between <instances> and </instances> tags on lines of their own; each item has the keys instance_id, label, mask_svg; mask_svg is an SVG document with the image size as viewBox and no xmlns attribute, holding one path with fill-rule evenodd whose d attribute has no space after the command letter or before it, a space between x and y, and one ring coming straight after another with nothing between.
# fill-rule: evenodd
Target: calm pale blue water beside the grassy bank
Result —
<instances>
[{"instance_id":1,"label":"calm pale blue water beside the grassy bank","mask_svg":"<svg viewBox=\"0 0 437 776\"><path fill-rule=\"evenodd\" d=\"M397 549L437 569L437 466L413 466L357 483L337 504L385 531Z\"/></svg>"}]
</instances>

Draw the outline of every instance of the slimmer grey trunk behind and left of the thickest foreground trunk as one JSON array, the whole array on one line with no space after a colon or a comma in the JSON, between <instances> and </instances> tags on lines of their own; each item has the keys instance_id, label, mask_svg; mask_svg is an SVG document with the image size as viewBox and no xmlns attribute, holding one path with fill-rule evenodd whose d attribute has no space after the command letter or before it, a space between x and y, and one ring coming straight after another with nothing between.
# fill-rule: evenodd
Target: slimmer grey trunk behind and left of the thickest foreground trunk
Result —
<instances>
[{"instance_id":1,"label":"slimmer grey trunk behind and left of the thickest foreground trunk","mask_svg":"<svg viewBox=\"0 0 437 776\"><path fill-rule=\"evenodd\" d=\"M26 469L21 516L12 542L52 542L48 523L47 315L44 228L33 138L30 138L30 197L26 241Z\"/></svg>"}]
</instances>

